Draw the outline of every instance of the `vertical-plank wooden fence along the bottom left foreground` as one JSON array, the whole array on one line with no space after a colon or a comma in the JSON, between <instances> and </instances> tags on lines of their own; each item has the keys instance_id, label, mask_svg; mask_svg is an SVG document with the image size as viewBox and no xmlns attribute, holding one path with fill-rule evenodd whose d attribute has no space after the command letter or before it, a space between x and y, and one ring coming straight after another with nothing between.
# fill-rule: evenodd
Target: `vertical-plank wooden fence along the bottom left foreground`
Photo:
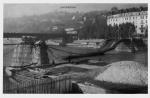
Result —
<instances>
[{"instance_id":1,"label":"vertical-plank wooden fence along the bottom left foreground","mask_svg":"<svg viewBox=\"0 0 150 98\"><path fill-rule=\"evenodd\" d=\"M72 83L70 76L62 76L55 79L47 78L41 80L32 80L30 82L23 82L20 84L10 84L4 81L3 93L69 93L72 90Z\"/></svg>"}]
</instances>

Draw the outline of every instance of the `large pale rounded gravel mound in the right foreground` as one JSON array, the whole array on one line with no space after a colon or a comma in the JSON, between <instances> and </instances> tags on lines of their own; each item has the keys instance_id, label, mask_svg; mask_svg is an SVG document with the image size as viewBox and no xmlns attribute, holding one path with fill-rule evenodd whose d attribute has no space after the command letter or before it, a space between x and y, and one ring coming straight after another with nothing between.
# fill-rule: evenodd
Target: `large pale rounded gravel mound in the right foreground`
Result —
<instances>
[{"instance_id":1,"label":"large pale rounded gravel mound in the right foreground","mask_svg":"<svg viewBox=\"0 0 150 98\"><path fill-rule=\"evenodd\" d=\"M110 67L98 74L95 80L111 83L147 86L148 68L134 61L120 61L109 64Z\"/></svg>"}]
</instances>

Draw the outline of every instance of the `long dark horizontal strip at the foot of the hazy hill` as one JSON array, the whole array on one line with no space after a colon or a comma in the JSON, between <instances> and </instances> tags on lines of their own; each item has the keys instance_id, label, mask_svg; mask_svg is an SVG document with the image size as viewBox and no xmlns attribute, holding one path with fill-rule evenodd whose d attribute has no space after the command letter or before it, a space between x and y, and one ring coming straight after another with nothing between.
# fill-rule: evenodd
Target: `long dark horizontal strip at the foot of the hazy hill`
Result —
<instances>
[{"instance_id":1,"label":"long dark horizontal strip at the foot of the hazy hill","mask_svg":"<svg viewBox=\"0 0 150 98\"><path fill-rule=\"evenodd\" d=\"M15 32L4 32L4 38L21 38L23 36L36 37L37 40L48 40L48 39L62 39L62 43L72 42L77 39L78 34L67 34L65 30L53 31L50 33L15 33ZM75 39L74 39L75 38Z\"/></svg>"}]
</instances>

